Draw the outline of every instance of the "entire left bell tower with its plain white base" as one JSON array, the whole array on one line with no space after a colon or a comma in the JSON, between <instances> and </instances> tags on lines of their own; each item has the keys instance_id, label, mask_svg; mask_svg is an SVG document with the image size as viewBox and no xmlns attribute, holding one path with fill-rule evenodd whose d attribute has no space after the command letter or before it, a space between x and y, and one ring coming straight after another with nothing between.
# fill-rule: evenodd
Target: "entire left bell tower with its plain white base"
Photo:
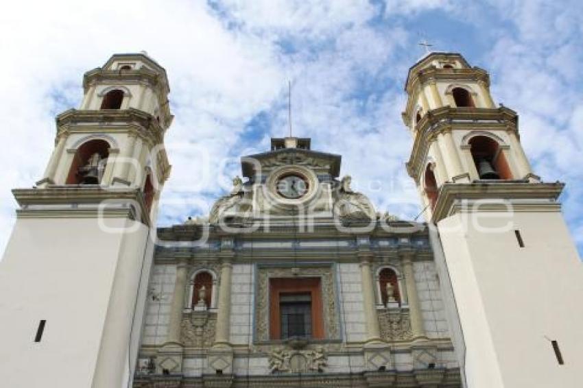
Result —
<instances>
[{"instance_id":1,"label":"entire left bell tower with its plain white base","mask_svg":"<svg viewBox=\"0 0 583 388\"><path fill-rule=\"evenodd\" d=\"M13 190L20 207L0 262L7 387L126 387L134 374L170 171L168 80L146 53L116 54L83 87L80 108L56 117L42 179Z\"/></svg>"}]
</instances>

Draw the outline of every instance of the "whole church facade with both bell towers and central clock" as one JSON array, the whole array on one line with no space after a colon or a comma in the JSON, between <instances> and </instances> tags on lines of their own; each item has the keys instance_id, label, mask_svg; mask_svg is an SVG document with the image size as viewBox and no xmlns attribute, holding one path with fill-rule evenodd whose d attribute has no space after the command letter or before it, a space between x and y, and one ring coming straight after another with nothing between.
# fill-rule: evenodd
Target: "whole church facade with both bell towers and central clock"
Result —
<instances>
[{"instance_id":1,"label":"whole church facade with both bell towers and central clock","mask_svg":"<svg viewBox=\"0 0 583 388\"><path fill-rule=\"evenodd\" d=\"M341 156L287 137L241 158L208 217L156 228L165 70L139 53L88 71L43 179L14 190L2 383L578 387L583 269L563 184L533 173L518 115L460 54L419 60L405 91L427 222L378 212Z\"/></svg>"}]
</instances>

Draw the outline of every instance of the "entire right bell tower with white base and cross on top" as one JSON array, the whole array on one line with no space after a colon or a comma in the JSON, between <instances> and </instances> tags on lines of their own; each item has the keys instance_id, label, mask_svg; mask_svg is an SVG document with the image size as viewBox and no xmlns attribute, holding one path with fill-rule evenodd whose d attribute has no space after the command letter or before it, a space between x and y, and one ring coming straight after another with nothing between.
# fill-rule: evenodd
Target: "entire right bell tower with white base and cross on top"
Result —
<instances>
[{"instance_id":1,"label":"entire right bell tower with white base and cross on top","mask_svg":"<svg viewBox=\"0 0 583 388\"><path fill-rule=\"evenodd\" d=\"M430 224L464 383L578 387L583 267L561 213L564 184L532 172L519 117L457 53L409 70L407 171Z\"/></svg>"}]
</instances>

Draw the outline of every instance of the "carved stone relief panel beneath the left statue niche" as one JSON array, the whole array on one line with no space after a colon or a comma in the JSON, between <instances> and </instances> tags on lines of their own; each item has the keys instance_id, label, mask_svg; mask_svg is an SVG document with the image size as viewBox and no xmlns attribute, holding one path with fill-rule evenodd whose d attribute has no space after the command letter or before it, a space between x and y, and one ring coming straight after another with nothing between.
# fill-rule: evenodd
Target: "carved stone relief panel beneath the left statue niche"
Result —
<instances>
[{"instance_id":1,"label":"carved stone relief panel beneath the left statue niche","mask_svg":"<svg viewBox=\"0 0 583 388\"><path fill-rule=\"evenodd\" d=\"M206 311L193 311L182 317L180 341L188 347L211 348L215 341L217 315Z\"/></svg>"}]
</instances>

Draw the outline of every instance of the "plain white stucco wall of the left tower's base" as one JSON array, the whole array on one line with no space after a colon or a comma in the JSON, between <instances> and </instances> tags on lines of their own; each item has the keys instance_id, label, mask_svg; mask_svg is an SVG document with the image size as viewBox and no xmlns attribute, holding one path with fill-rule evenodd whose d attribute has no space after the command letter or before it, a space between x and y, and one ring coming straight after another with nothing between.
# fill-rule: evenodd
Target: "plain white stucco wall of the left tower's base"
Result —
<instances>
[{"instance_id":1,"label":"plain white stucco wall of the left tower's base","mask_svg":"<svg viewBox=\"0 0 583 388\"><path fill-rule=\"evenodd\" d=\"M16 221L0 263L2 386L123 383L146 232L106 233L96 219ZM35 343L40 319L47 324Z\"/></svg>"}]
</instances>

